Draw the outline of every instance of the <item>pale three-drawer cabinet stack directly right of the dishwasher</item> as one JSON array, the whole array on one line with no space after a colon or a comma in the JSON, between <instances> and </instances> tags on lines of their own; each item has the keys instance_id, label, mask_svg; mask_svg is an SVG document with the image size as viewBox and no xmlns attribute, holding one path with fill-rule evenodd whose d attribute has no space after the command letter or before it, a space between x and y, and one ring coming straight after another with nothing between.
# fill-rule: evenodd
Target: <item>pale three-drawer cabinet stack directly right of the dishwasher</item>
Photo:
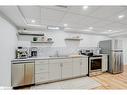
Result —
<instances>
[{"instance_id":1,"label":"pale three-drawer cabinet stack directly right of the dishwasher","mask_svg":"<svg viewBox=\"0 0 127 95\"><path fill-rule=\"evenodd\" d=\"M46 60L35 60L35 84L49 81L49 63Z\"/></svg>"}]
</instances>

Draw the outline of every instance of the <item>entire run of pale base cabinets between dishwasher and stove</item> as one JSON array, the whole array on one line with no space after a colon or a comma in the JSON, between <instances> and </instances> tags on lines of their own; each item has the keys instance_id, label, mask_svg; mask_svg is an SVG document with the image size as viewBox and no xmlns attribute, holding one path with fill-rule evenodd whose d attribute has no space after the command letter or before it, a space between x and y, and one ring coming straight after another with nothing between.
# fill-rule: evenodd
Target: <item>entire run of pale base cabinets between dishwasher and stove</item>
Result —
<instances>
[{"instance_id":1,"label":"entire run of pale base cabinets between dishwasher and stove","mask_svg":"<svg viewBox=\"0 0 127 95\"><path fill-rule=\"evenodd\" d=\"M88 57L35 60L35 84L88 74Z\"/></svg>"}]
</instances>

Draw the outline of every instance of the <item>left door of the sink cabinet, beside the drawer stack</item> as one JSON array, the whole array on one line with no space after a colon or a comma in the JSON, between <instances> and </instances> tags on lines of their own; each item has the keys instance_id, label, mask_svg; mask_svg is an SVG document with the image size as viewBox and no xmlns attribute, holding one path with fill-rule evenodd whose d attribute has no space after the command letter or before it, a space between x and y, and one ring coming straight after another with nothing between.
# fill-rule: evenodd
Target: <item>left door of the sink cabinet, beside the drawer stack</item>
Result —
<instances>
[{"instance_id":1,"label":"left door of the sink cabinet, beside the drawer stack","mask_svg":"<svg viewBox=\"0 0 127 95\"><path fill-rule=\"evenodd\" d=\"M59 59L49 60L49 81L61 79L61 66Z\"/></svg>"}]
</instances>

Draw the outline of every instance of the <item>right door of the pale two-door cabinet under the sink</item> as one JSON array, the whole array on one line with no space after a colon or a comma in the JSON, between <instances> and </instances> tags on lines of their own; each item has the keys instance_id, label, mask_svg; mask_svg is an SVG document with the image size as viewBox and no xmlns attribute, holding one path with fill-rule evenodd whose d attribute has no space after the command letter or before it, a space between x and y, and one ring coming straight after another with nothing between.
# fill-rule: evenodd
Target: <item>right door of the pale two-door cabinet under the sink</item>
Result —
<instances>
[{"instance_id":1,"label":"right door of the pale two-door cabinet under the sink","mask_svg":"<svg viewBox=\"0 0 127 95\"><path fill-rule=\"evenodd\" d=\"M72 61L70 59L62 60L62 79L72 77Z\"/></svg>"}]
</instances>

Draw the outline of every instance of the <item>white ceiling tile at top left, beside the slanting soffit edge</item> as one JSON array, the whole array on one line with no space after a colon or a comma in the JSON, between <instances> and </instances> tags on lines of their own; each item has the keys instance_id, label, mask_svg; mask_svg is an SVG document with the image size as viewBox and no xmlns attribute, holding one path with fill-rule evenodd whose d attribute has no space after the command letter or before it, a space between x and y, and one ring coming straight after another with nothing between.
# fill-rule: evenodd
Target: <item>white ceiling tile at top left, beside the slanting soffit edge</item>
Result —
<instances>
[{"instance_id":1,"label":"white ceiling tile at top left, beside the slanting soffit edge","mask_svg":"<svg viewBox=\"0 0 127 95\"><path fill-rule=\"evenodd\" d=\"M39 6L20 6L19 9L26 19L40 19L41 17Z\"/></svg>"}]
</instances>

